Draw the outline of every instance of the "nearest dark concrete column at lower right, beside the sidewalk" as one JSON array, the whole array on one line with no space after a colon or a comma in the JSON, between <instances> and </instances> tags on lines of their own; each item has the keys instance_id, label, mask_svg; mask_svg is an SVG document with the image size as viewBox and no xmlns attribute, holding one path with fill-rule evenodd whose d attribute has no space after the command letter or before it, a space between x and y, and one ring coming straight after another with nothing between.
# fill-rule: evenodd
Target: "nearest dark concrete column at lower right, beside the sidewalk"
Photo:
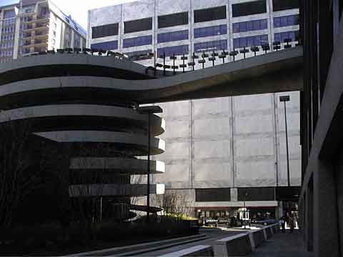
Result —
<instances>
[{"instance_id":1,"label":"nearest dark concrete column at lower right, beside the sidewalk","mask_svg":"<svg viewBox=\"0 0 343 257\"><path fill-rule=\"evenodd\" d=\"M313 178L314 256L339 257L337 194L332 162L317 159Z\"/></svg>"}]
</instances>

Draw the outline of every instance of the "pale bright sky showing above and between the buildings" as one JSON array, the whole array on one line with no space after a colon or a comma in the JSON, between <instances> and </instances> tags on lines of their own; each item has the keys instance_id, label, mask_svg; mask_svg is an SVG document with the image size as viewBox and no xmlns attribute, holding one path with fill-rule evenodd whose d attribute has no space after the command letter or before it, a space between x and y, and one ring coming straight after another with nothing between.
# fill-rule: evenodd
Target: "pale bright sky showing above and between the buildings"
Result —
<instances>
[{"instance_id":1,"label":"pale bright sky showing above and between the buildings","mask_svg":"<svg viewBox=\"0 0 343 257\"><path fill-rule=\"evenodd\" d=\"M88 10L134 0L52 0L65 14L70 14L77 23L87 29ZM18 3L19 0L0 0L0 6Z\"/></svg>"}]
</instances>

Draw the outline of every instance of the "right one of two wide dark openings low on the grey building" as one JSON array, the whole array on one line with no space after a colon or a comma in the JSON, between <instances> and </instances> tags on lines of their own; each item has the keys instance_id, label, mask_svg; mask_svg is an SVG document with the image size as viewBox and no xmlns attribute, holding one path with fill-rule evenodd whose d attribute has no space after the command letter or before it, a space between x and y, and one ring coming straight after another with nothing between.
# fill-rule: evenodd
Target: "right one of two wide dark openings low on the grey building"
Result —
<instances>
[{"instance_id":1,"label":"right one of two wide dark openings low on the grey building","mask_svg":"<svg viewBox=\"0 0 343 257\"><path fill-rule=\"evenodd\" d=\"M275 193L272 187L237 188L238 201L274 201Z\"/></svg>"}]
</instances>

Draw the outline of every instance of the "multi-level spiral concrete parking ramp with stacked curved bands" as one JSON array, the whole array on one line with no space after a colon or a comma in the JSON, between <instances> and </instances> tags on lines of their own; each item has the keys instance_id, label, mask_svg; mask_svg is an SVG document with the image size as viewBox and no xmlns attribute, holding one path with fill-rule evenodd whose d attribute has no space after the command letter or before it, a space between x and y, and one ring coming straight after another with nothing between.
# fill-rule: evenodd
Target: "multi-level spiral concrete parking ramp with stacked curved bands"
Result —
<instances>
[{"instance_id":1,"label":"multi-level spiral concrete parking ramp with stacked curved bands","mask_svg":"<svg viewBox=\"0 0 343 257\"><path fill-rule=\"evenodd\" d=\"M147 114L139 114L131 98L113 97L116 86L149 76L133 62L117 62L56 55L1 64L0 123L24 121L35 140L71 147L69 196L101 198L101 205L111 206L109 216L125 219L138 208L131 206L131 197L147 193L144 181L132 183L131 177L146 175L147 161L141 157L148 154L149 145L151 155L164 152L164 141L156 136L164 133L165 123L151 114L149 143ZM106 84L101 79L114 87L101 91ZM66 81L72 89L65 87ZM163 173L164 163L151 161L150 169ZM149 193L164 193L164 185L151 184Z\"/></svg>"}]
</instances>

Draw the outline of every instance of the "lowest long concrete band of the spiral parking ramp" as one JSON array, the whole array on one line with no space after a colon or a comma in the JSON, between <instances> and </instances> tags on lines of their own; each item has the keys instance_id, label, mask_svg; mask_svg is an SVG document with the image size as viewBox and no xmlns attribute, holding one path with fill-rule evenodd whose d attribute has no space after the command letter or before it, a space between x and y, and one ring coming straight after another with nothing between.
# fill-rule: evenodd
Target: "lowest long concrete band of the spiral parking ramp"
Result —
<instances>
[{"instance_id":1,"label":"lowest long concrete band of the spiral parking ramp","mask_svg":"<svg viewBox=\"0 0 343 257\"><path fill-rule=\"evenodd\" d=\"M82 184L69 186L69 196L146 196L146 184ZM164 194L164 184L150 184L151 194Z\"/></svg>"}]
</instances>

